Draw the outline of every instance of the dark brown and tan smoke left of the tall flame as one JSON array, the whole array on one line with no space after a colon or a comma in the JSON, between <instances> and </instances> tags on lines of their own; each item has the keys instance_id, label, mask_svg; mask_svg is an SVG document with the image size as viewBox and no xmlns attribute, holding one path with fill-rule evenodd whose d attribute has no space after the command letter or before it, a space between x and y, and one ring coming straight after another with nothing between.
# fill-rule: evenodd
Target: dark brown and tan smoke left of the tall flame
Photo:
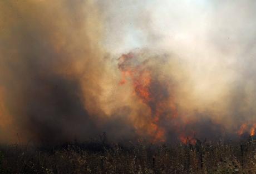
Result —
<instances>
[{"instance_id":1,"label":"dark brown and tan smoke left of the tall flame","mask_svg":"<svg viewBox=\"0 0 256 174\"><path fill-rule=\"evenodd\" d=\"M86 139L105 131L99 96L108 74L95 4L1 1L0 11L1 139Z\"/></svg>"}]
</instances>

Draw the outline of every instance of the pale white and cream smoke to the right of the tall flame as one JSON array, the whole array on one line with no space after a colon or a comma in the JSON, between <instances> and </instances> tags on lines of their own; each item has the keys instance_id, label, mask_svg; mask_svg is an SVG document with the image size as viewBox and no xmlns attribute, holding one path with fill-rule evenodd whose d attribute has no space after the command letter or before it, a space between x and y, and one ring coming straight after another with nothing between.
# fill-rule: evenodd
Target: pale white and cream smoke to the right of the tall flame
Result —
<instances>
[{"instance_id":1,"label":"pale white and cream smoke to the right of the tall flame","mask_svg":"<svg viewBox=\"0 0 256 174\"><path fill-rule=\"evenodd\" d=\"M165 54L152 58L148 52L144 57L154 62L164 59L164 65L154 64L151 71L161 72L168 77L163 81L175 84L165 96L175 96L179 119L162 118L166 126L158 123L166 139L175 137L173 132L178 137L234 137L241 125L255 122L254 1L116 4L112 11L116 18L110 22L126 23L122 35L116 34L120 26L108 34L107 47L120 54L141 47ZM121 39L116 44L113 38ZM163 91L161 84L158 87ZM168 124L176 120L178 127ZM244 133L252 129L248 126Z\"/></svg>"}]
</instances>

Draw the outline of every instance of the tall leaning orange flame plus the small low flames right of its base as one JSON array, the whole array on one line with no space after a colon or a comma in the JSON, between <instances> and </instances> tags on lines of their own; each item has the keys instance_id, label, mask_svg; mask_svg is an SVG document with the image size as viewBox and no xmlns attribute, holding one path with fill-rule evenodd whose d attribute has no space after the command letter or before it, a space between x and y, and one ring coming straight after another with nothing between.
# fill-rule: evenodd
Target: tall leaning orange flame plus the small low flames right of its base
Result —
<instances>
[{"instance_id":1,"label":"tall leaning orange flame plus the small low flames right of its base","mask_svg":"<svg viewBox=\"0 0 256 174\"><path fill-rule=\"evenodd\" d=\"M126 84L128 79L131 81L134 94L150 109L151 117L145 121L144 131L152 137L152 142L163 142L166 140L166 130L161 126L161 123L164 119L169 120L178 117L178 111L174 97L169 93L169 89L166 90L166 85L169 84L157 81L154 71L147 63L149 63L148 59L142 61L139 56L133 53L123 54L119 58L119 69L122 74L119 84ZM155 85L157 85L156 90L154 88ZM166 90L166 93L164 90ZM191 122L191 120L181 115L180 118L184 125ZM180 124L181 122L173 120L172 125L177 128L176 131L180 134L180 141L184 144L195 144L196 140L193 136L195 132L192 131L193 134L191 135L185 134L185 131L180 132L179 129L182 127Z\"/></svg>"}]
</instances>

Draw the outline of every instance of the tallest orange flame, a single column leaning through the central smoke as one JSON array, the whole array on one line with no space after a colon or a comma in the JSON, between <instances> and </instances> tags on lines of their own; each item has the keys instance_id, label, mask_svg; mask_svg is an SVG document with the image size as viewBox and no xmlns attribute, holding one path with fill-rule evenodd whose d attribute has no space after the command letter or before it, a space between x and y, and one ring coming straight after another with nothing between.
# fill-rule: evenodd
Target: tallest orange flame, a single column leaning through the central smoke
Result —
<instances>
[{"instance_id":1,"label":"tallest orange flame, a single column leaning through the central smoke","mask_svg":"<svg viewBox=\"0 0 256 174\"><path fill-rule=\"evenodd\" d=\"M141 60L142 59L142 60ZM163 90L157 92L161 85L154 77L153 71L148 65L149 60L133 53L123 54L119 58L119 69L122 73L120 85L131 80L134 94L150 109L150 121L146 126L146 132L152 137L153 142L165 141L165 129L160 125L160 117L170 109L168 97L164 96ZM162 87L163 88L163 87ZM175 108L172 108L175 110ZM175 112L175 111L174 111Z\"/></svg>"}]
</instances>

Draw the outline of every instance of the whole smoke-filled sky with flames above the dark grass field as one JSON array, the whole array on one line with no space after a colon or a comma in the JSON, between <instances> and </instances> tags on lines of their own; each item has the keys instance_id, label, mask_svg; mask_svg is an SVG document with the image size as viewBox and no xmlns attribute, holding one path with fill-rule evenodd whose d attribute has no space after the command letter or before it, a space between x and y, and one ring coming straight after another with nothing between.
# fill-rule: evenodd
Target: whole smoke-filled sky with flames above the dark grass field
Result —
<instances>
[{"instance_id":1,"label":"whole smoke-filled sky with flames above the dark grass field","mask_svg":"<svg viewBox=\"0 0 256 174\"><path fill-rule=\"evenodd\" d=\"M0 141L254 135L256 2L0 1Z\"/></svg>"}]
</instances>

